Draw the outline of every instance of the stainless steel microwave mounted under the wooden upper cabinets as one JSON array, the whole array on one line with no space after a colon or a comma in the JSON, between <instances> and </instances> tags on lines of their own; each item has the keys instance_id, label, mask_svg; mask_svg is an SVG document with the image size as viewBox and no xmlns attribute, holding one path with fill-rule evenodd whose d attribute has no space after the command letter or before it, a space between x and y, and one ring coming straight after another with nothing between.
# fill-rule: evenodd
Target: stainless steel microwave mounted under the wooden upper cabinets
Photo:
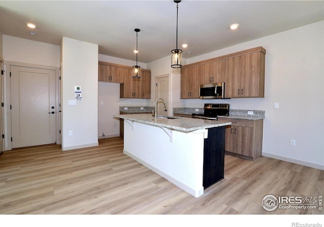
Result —
<instances>
[{"instance_id":1,"label":"stainless steel microwave mounted under the wooden upper cabinets","mask_svg":"<svg viewBox=\"0 0 324 227\"><path fill-rule=\"evenodd\" d=\"M224 99L225 82L199 85L200 99Z\"/></svg>"}]
</instances>

